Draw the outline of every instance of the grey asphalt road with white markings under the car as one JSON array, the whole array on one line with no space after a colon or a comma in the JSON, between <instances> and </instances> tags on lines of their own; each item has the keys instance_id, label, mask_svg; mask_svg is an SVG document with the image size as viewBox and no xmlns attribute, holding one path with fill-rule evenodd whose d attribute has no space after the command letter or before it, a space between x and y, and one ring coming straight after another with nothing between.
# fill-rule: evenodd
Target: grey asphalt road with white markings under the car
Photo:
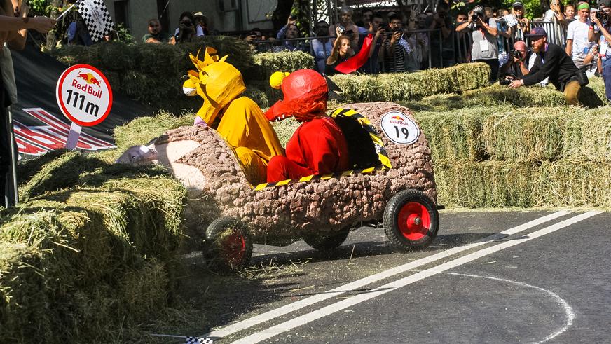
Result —
<instances>
[{"instance_id":1,"label":"grey asphalt road with white markings under the car","mask_svg":"<svg viewBox=\"0 0 611 344\"><path fill-rule=\"evenodd\" d=\"M303 242L256 245L256 307L215 343L611 343L611 214L441 212L422 252L359 228L331 256ZM348 285L347 285L348 284ZM238 303L256 293L245 292Z\"/></svg>"}]
</instances>

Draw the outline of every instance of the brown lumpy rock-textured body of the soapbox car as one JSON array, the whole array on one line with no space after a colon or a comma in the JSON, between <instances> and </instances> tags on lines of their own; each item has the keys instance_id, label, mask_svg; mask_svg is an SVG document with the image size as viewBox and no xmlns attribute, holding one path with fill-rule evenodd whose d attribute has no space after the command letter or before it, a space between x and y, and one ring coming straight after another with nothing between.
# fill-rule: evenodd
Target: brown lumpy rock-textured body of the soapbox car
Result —
<instances>
[{"instance_id":1,"label":"brown lumpy rock-textured body of the soapbox car","mask_svg":"<svg viewBox=\"0 0 611 344\"><path fill-rule=\"evenodd\" d=\"M156 147L181 141L191 142L195 147L174 160L174 165L195 167L203 176L198 181L186 181L191 195L186 212L188 233L201 235L214 219L231 216L245 223L255 242L277 243L298 240L311 233L332 233L362 221L380 220L387 202L399 191L423 191L437 203L425 135L420 133L411 144L395 144L380 127L381 118L390 111L404 113L416 123L411 112L390 102L350 104L345 108L354 109L369 119L383 141L392 168L256 191L247 181L231 147L212 128L182 127L159 137ZM163 149L158 154L163 155Z\"/></svg>"}]
</instances>

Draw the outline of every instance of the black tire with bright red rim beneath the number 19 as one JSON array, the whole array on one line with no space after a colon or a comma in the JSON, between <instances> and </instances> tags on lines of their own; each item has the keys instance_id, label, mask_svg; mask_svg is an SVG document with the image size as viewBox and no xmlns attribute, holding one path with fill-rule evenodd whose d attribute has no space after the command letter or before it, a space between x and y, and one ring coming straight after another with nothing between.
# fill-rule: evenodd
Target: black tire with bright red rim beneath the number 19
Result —
<instances>
[{"instance_id":1,"label":"black tire with bright red rim beneath the number 19","mask_svg":"<svg viewBox=\"0 0 611 344\"><path fill-rule=\"evenodd\" d=\"M405 190L390 198L384 209L384 231L401 251L424 249L437 236L439 213L422 191Z\"/></svg>"}]
</instances>

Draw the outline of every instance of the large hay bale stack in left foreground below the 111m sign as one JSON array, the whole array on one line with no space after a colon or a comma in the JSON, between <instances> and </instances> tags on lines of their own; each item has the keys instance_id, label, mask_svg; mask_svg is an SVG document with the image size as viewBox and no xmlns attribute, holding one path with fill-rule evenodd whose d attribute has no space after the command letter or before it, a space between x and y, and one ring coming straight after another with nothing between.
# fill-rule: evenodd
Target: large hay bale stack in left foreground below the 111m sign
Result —
<instances>
[{"instance_id":1,"label":"large hay bale stack in left foreground below the 111m sign","mask_svg":"<svg viewBox=\"0 0 611 344\"><path fill-rule=\"evenodd\" d=\"M0 342L121 341L155 319L175 281L184 188L65 151L19 175L22 202L0 212Z\"/></svg>"}]
</instances>

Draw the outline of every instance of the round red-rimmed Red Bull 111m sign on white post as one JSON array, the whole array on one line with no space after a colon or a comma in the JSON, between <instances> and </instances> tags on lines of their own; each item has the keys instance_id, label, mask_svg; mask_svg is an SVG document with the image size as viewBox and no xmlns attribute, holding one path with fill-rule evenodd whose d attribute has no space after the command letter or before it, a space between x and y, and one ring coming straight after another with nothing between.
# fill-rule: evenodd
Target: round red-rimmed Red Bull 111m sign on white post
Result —
<instances>
[{"instance_id":1,"label":"round red-rimmed Red Bull 111m sign on white post","mask_svg":"<svg viewBox=\"0 0 611 344\"><path fill-rule=\"evenodd\" d=\"M112 90L106 76L88 64L75 64L62 73L55 98L64 116L72 121L67 149L76 148L81 126L101 123L112 107Z\"/></svg>"}]
</instances>

